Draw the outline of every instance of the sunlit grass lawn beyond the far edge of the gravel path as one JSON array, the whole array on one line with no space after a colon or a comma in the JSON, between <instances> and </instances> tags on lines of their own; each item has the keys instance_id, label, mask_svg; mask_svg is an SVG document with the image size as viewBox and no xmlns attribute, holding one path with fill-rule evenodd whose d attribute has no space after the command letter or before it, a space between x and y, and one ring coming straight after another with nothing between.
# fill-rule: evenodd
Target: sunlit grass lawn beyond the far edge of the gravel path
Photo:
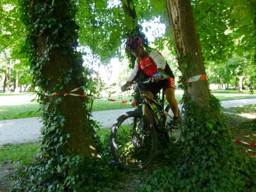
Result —
<instances>
[{"instance_id":1,"label":"sunlit grass lawn beyond the far edge of the gravel path","mask_svg":"<svg viewBox=\"0 0 256 192\"><path fill-rule=\"evenodd\" d=\"M218 90L212 91L212 94L219 100L256 98L256 94L252 95L248 91L238 93L236 91ZM175 97L178 102L182 99L182 95L182 90L175 91ZM36 95L32 93L0 93L0 120L40 116L41 112L38 111L39 104L30 102L35 98ZM109 99L108 96L104 96L104 98ZM119 98L118 96L112 95L110 99L130 101L131 97L124 95L122 98ZM120 108L132 108L132 106L124 103L95 99L92 111Z\"/></svg>"}]
</instances>

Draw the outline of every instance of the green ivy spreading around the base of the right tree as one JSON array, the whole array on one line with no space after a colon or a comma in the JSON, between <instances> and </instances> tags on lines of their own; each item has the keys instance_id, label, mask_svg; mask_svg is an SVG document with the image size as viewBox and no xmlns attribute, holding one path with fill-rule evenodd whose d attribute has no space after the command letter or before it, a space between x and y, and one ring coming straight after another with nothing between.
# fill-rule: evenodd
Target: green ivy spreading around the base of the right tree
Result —
<instances>
[{"instance_id":1,"label":"green ivy spreading around the base of the right tree","mask_svg":"<svg viewBox=\"0 0 256 192\"><path fill-rule=\"evenodd\" d=\"M156 169L140 191L256 191L256 169L234 146L221 113L220 100L213 95L202 108L187 92L184 83L191 70L188 57L181 57L183 82L183 139L180 154L170 156L169 165ZM193 83L193 82L192 82Z\"/></svg>"}]
</instances>

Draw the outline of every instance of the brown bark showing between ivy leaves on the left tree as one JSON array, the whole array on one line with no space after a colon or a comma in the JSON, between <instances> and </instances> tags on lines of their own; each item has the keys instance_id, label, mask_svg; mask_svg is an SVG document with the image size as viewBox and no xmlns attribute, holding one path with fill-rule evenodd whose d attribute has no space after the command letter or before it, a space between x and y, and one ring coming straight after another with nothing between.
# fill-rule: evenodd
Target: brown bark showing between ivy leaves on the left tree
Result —
<instances>
[{"instance_id":1,"label":"brown bark showing between ivy leaves on the left tree","mask_svg":"<svg viewBox=\"0 0 256 192\"><path fill-rule=\"evenodd\" d=\"M43 3L42 0L36 0L33 1L33 6L31 7L31 13L34 13L32 15L33 21L35 22L38 18L38 14L35 14L33 10L35 10L35 7L39 5L40 3ZM55 3L55 2L54 2ZM68 6L68 4L67 4ZM71 5L70 5L71 6ZM55 7L53 12L53 17L60 19L62 17L63 10L60 9L60 7ZM74 21L66 20L64 23L62 23L62 28L70 28L69 23L73 23ZM66 18L65 18L66 19ZM49 31L51 29L45 29L42 33L40 31L37 31L38 36L34 39L34 45L37 54L41 58L45 58L45 52L47 52L47 49L49 49L49 41L48 37L50 36L51 32ZM75 33L75 29L74 29ZM75 35L75 34L74 34ZM63 39L65 39L66 36L63 34L59 34L58 40L59 44L61 44ZM74 38L76 38L74 36ZM57 41L58 41L57 40ZM76 40L76 39L75 39ZM58 42L57 42L58 43ZM74 44L73 47L76 45ZM72 48L72 47L71 47ZM75 50L72 49L75 55ZM61 46L51 48L48 55L49 60L44 62L42 64L42 67L40 69L41 78L48 79L47 85L41 87L42 90L50 90L51 92L54 92L56 90L57 85L61 85L63 87L63 92L69 92L77 87L80 86L79 82L75 78L71 78L67 83L64 83L65 72L67 73L70 69L73 69L74 63L72 62L69 54L64 54L65 50ZM72 54L71 54L72 55ZM82 66L83 61L80 60L80 65ZM91 132L89 129L89 123L86 116L86 110L84 108L84 103L81 97L74 97L74 96L58 96L61 98L61 103L58 106L58 110L61 114L65 117L65 122L62 127L62 134L67 135L70 134L70 137L68 138L68 142L64 145L63 151L65 155L81 155L81 156L88 156L88 157L99 157L98 151L95 148L94 140L92 139ZM48 96L46 97L46 103L49 103L51 108L51 105L54 105L56 103L56 100L58 100L58 97L56 96ZM47 111L43 111L47 113ZM46 119L46 121L49 121L50 119Z\"/></svg>"}]
</instances>

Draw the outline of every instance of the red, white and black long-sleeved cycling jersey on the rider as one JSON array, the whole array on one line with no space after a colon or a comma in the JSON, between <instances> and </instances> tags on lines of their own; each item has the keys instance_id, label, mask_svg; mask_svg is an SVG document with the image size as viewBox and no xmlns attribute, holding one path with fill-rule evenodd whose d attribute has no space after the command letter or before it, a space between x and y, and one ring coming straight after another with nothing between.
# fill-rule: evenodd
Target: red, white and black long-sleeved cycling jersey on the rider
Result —
<instances>
[{"instance_id":1,"label":"red, white and black long-sleeved cycling jersey on the rider","mask_svg":"<svg viewBox=\"0 0 256 192\"><path fill-rule=\"evenodd\" d=\"M159 51L156 49L149 49L148 51L144 51L146 52L146 56L143 59L137 58L135 60L134 68L127 81L132 83L136 79L140 70L146 73L149 77L152 77L158 68L163 69L165 73L174 78L172 70Z\"/></svg>"}]
</instances>

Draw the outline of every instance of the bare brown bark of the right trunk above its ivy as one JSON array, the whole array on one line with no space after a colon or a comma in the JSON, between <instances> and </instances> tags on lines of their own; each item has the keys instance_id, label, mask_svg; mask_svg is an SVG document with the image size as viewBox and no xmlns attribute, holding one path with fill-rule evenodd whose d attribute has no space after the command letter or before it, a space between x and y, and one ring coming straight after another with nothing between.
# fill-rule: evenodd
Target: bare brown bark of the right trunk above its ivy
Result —
<instances>
[{"instance_id":1,"label":"bare brown bark of the right trunk above its ivy","mask_svg":"<svg viewBox=\"0 0 256 192\"><path fill-rule=\"evenodd\" d=\"M172 35L175 42L175 51L183 78L205 75L204 59L199 41L189 0L167 0L167 9ZM208 105L211 96L208 80L191 82L187 84L186 91L191 100L201 107Z\"/></svg>"}]
</instances>

